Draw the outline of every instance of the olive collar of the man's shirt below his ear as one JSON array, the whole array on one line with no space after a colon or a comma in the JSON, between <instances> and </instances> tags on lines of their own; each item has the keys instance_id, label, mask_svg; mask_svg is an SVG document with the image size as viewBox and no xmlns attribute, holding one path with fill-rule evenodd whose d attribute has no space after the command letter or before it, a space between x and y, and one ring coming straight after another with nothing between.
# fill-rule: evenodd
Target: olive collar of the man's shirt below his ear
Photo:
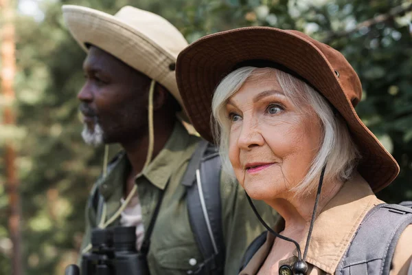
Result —
<instances>
[{"instance_id":1,"label":"olive collar of the man's shirt below his ear","mask_svg":"<svg viewBox=\"0 0 412 275\"><path fill-rule=\"evenodd\" d=\"M148 167L136 176L136 183L138 184L139 177L144 175L150 183L164 190L172 173L192 156L192 151L187 150L189 143L190 134L187 133L181 122L176 122L168 142Z\"/></svg>"}]
</instances>

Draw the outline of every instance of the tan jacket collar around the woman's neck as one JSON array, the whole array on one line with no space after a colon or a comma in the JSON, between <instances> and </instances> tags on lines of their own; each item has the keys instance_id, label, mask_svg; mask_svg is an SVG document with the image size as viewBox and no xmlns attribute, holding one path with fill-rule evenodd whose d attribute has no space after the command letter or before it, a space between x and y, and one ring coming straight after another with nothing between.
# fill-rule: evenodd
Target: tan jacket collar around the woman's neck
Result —
<instances>
[{"instance_id":1,"label":"tan jacket collar around the woman's neck","mask_svg":"<svg viewBox=\"0 0 412 275\"><path fill-rule=\"evenodd\" d=\"M314 221L306 261L328 274L334 274L361 221L367 212L379 203L382 201L376 198L361 175L357 174L347 181ZM279 219L274 230L280 232L283 229L284 219ZM304 241L299 243L302 254L306 238L307 235L304 236ZM271 252L274 241L275 237L268 233L266 242L241 274L256 274ZM296 261L296 250L293 255L295 256L280 261L279 265L293 264Z\"/></svg>"}]
</instances>

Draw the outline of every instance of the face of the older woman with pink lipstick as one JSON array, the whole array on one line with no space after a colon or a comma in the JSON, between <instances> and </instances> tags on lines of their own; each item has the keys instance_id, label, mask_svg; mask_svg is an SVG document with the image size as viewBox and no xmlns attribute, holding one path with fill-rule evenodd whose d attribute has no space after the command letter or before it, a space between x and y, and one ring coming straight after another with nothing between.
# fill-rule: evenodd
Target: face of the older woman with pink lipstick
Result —
<instances>
[{"instance_id":1,"label":"face of the older woman with pink lipstick","mask_svg":"<svg viewBox=\"0 0 412 275\"><path fill-rule=\"evenodd\" d=\"M251 76L226 105L236 177L249 196L264 201L293 195L286 191L305 177L321 141L317 115L286 98L275 74Z\"/></svg>"}]
</instances>

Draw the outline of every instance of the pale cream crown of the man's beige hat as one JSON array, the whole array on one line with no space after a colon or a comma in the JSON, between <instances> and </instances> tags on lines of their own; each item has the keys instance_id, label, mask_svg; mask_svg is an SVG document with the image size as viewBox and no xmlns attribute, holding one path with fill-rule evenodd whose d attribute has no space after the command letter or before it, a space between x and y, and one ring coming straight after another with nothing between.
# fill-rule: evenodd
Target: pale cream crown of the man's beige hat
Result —
<instances>
[{"instance_id":1,"label":"pale cream crown of the man's beige hat","mask_svg":"<svg viewBox=\"0 0 412 275\"><path fill-rule=\"evenodd\" d=\"M139 30L174 58L177 58L179 52L187 46L187 41L174 25L152 12L126 5L114 17Z\"/></svg>"}]
</instances>

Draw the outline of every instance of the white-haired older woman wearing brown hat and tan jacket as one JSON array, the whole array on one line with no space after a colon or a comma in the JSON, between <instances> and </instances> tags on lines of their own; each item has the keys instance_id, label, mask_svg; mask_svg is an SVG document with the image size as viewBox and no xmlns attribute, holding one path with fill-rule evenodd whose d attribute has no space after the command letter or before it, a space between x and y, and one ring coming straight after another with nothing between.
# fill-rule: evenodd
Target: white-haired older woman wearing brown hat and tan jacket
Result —
<instances>
[{"instance_id":1,"label":"white-haired older woman wearing brown hat and tan jacket","mask_svg":"<svg viewBox=\"0 0 412 275\"><path fill-rule=\"evenodd\" d=\"M381 210L374 195L399 166L358 118L361 82L342 54L301 32L241 28L192 43L176 76L224 170L283 218L240 274L407 274L412 211Z\"/></svg>"}]
</instances>

